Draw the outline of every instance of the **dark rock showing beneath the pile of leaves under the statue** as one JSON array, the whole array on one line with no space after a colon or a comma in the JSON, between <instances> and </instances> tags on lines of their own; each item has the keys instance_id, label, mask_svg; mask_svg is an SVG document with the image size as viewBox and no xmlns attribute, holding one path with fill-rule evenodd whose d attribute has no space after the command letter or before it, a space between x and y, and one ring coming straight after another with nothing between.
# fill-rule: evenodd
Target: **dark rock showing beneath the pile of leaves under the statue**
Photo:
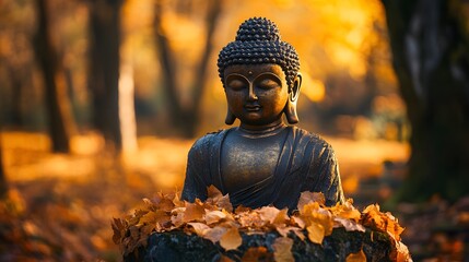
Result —
<instances>
[{"instance_id":1,"label":"dark rock showing beneath the pile of leaves under the statue","mask_svg":"<svg viewBox=\"0 0 469 262\"><path fill-rule=\"evenodd\" d=\"M133 261L220 261L224 255L234 261L241 261L244 253L253 247L265 247L272 254L272 243L280 237L275 231L247 235L242 233L243 245L237 250L225 251L219 243L203 239L195 234L188 235L175 230L152 234L148 246L140 247L136 252L124 258L126 262ZM345 231L336 228L332 235L325 237L323 245L309 240L302 241L293 234L292 254L295 261L345 261L350 253L360 250L366 255L366 261L390 261L389 254L392 245L389 237L380 231L366 229L361 231ZM270 261L273 255L266 258Z\"/></svg>"}]
</instances>

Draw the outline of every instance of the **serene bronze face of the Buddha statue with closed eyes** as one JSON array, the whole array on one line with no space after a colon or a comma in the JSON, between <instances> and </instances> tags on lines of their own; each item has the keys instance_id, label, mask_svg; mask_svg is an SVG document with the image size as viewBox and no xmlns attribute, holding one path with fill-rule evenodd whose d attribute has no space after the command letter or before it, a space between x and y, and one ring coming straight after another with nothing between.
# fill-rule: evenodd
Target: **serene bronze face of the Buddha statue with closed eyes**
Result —
<instances>
[{"instance_id":1,"label":"serene bronze face of the Buddha statue with closed eyes","mask_svg":"<svg viewBox=\"0 0 469 262\"><path fill-rule=\"evenodd\" d=\"M278 64L235 64L224 72L230 110L242 123L265 126L281 121L289 99L285 73Z\"/></svg>"}]
</instances>

